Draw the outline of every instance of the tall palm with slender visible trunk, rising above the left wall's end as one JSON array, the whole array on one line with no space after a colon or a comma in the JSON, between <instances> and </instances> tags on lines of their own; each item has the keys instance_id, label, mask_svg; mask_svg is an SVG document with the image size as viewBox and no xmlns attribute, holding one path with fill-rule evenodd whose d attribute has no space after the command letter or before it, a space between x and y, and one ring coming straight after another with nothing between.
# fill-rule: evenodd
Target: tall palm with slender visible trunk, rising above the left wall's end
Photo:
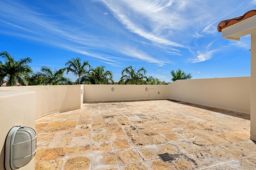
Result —
<instances>
[{"instance_id":1,"label":"tall palm with slender visible trunk, rising above the left wall's end","mask_svg":"<svg viewBox=\"0 0 256 170\"><path fill-rule=\"evenodd\" d=\"M81 58L79 57L68 60L65 66L67 66L67 74L68 72L72 72L74 75L78 76L78 79L76 80L78 84L81 84L82 76L88 76L88 70L86 69L86 67L88 66L90 68L90 64L88 63L88 61L83 61L81 63Z\"/></svg>"}]
</instances>

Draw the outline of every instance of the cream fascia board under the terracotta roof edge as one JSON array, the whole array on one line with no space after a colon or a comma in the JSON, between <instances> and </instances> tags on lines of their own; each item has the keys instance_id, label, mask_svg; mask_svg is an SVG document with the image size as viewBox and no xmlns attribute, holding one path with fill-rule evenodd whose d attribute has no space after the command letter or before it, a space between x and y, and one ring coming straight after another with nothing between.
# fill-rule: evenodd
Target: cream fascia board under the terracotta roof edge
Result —
<instances>
[{"instance_id":1,"label":"cream fascia board under the terracotta roof edge","mask_svg":"<svg viewBox=\"0 0 256 170\"><path fill-rule=\"evenodd\" d=\"M256 32L256 15L222 29L222 38L239 41L240 37Z\"/></svg>"}]
</instances>

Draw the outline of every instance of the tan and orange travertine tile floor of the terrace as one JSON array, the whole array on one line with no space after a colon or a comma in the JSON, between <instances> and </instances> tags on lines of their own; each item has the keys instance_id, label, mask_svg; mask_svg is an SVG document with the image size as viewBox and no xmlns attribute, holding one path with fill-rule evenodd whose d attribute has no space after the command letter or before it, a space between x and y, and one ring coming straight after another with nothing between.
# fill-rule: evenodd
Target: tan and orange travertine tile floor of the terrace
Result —
<instances>
[{"instance_id":1,"label":"tan and orange travertine tile floor of the terrace","mask_svg":"<svg viewBox=\"0 0 256 170\"><path fill-rule=\"evenodd\" d=\"M256 169L250 115L184 102L85 103L36 132L36 170Z\"/></svg>"}]
</instances>

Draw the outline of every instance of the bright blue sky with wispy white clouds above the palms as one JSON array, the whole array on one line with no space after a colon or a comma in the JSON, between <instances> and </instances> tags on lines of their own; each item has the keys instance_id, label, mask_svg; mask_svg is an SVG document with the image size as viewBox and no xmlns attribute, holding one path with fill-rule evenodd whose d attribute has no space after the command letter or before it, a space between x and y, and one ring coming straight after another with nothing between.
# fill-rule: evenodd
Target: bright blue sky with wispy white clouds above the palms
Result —
<instances>
[{"instance_id":1,"label":"bright blue sky with wispy white clouds above the palms","mask_svg":"<svg viewBox=\"0 0 256 170\"><path fill-rule=\"evenodd\" d=\"M32 58L34 72L80 57L106 66L115 81L128 65L166 82L178 68L193 79L250 76L250 35L226 40L217 26L255 9L256 0L1 0L0 6L0 51Z\"/></svg>"}]
</instances>

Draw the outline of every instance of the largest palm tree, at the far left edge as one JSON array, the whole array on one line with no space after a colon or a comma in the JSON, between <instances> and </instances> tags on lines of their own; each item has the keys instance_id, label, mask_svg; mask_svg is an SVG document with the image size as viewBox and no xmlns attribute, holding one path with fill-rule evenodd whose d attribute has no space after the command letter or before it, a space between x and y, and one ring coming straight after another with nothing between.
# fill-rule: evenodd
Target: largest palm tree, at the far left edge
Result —
<instances>
[{"instance_id":1,"label":"largest palm tree, at the far left edge","mask_svg":"<svg viewBox=\"0 0 256 170\"><path fill-rule=\"evenodd\" d=\"M32 59L27 57L15 61L6 51L1 52L0 56L5 60L5 64L0 62L1 82L7 76L6 86L16 86L16 82L19 82L21 85L28 85L26 78L33 72L28 63L31 63Z\"/></svg>"}]
</instances>

